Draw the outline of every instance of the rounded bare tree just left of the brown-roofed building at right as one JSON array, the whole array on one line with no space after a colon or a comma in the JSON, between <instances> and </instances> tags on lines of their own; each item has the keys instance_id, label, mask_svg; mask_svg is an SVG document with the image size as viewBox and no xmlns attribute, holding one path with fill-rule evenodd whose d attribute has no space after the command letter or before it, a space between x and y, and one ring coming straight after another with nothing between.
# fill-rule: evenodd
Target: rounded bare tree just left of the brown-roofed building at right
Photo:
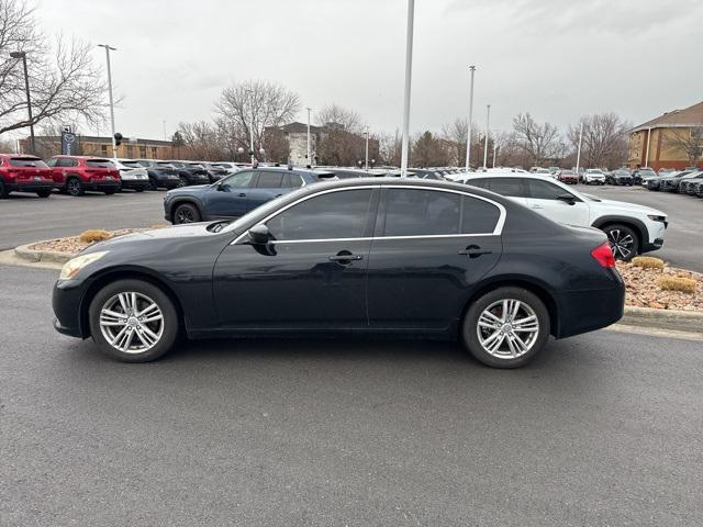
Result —
<instances>
[{"instance_id":1,"label":"rounded bare tree just left of the brown-roofed building at right","mask_svg":"<svg viewBox=\"0 0 703 527\"><path fill-rule=\"evenodd\" d=\"M568 141L573 150L579 145L583 124L581 159L584 167L617 168L627 159L627 130L631 124L615 113L596 113L582 116L569 127Z\"/></svg>"}]
</instances>

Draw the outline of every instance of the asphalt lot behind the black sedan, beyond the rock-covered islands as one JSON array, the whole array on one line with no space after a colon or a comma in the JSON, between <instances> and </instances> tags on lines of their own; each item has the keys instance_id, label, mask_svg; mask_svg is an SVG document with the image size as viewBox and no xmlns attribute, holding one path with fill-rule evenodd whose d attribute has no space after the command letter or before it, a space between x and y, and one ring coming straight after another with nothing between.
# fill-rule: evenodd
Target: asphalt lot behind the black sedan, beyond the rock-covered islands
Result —
<instances>
[{"instance_id":1,"label":"asphalt lot behind the black sedan, beyond the rock-covered islands","mask_svg":"<svg viewBox=\"0 0 703 527\"><path fill-rule=\"evenodd\" d=\"M670 216L665 247L652 253L672 266L703 272L703 200L639 187L576 187L600 198L654 206ZM37 239L71 236L87 228L145 227L164 223L164 192L123 192L103 195L88 192L80 198L54 194L10 194L0 200L0 250Z\"/></svg>"}]
</instances>

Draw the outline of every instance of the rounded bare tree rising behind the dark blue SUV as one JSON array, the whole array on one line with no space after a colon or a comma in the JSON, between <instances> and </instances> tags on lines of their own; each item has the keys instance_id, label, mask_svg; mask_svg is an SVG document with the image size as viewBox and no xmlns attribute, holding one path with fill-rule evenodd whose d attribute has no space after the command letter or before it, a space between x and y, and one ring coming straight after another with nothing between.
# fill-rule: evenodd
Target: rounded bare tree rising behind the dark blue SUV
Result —
<instances>
[{"instance_id":1,"label":"rounded bare tree rising behind the dark blue SUV","mask_svg":"<svg viewBox=\"0 0 703 527\"><path fill-rule=\"evenodd\" d=\"M299 110L298 93L267 80L246 80L222 90L215 102L215 124L234 159L239 147L249 149L250 130L254 152L258 152L264 147L266 128L291 122Z\"/></svg>"}]
</instances>

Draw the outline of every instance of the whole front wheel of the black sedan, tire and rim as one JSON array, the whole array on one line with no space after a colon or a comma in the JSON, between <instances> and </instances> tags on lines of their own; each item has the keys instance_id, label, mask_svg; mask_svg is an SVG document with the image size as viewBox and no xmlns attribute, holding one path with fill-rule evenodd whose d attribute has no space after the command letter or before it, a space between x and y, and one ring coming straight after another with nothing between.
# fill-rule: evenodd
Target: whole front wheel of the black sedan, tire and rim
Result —
<instances>
[{"instance_id":1,"label":"whole front wheel of the black sedan, tire and rim","mask_svg":"<svg viewBox=\"0 0 703 527\"><path fill-rule=\"evenodd\" d=\"M174 302L142 280L119 280L101 289L89 307L90 333L104 354L147 362L168 352L179 329Z\"/></svg>"}]
</instances>

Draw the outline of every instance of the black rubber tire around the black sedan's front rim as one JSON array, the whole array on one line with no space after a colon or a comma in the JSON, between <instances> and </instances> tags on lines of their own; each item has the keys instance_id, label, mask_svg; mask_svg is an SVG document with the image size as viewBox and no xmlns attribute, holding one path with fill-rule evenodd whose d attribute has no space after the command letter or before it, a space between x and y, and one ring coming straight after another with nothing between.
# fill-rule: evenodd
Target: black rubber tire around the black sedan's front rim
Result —
<instances>
[{"instance_id":1,"label":"black rubber tire around the black sedan's front rim","mask_svg":"<svg viewBox=\"0 0 703 527\"><path fill-rule=\"evenodd\" d=\"M137 303L140 301L146 302L144 299L153 301L161 312L161 316L163 316L160 321L161 325L158 326L159 338L156 340L155 344L153 344L152 347L149 347L148 349L145 349L144 351L140 351L137 349L137 350L134 350L133 352L127 352L127 351L118 349L110 341L108 341L100 326L100 312L103 309L103 306L109 305L112 301L114 301L114 298L118 294L127 293L127 292L130 293L134 292L134 293L137 293L137 295L143 295L142 298L140 298ZM138 305L137 305L137 309L138 309ZM124 362L148 362L152 360L156 360L171 349L171 347L176 343L179 335L180 321L178 317L178 311L176 310L174 302L160 288L158 288L157 285L154 285L153 283L145 282L143 280L133 280L133 279L118 280L115 282L109 283L108 285L102 288L100 291L98 291L96 296L90 302L90 307L88 310L89 310L88 317L90 321L90 334L94 343L98 345L100 351L102 351L103 354L110 357L122 360ZM130 316L130 318L135 318L135 317ZM158 325L159 322L157 321L155 323L148 323L148 324L150 324L149 327L154 333L157 330L156 325ZM125 325L124 327L129 328L132 326ZM144 327L144 324L140 324L137 327L130 329L131 332L134 332L134 335L131 338L130 343L134 343L135 338L140 343L143 343L140 339L141 337L138 336L138 333L143 330L141 329L142 327ZM116 329L109 329L109 328L108 330L116 332Z\"/></svg>"}]
</instances>

